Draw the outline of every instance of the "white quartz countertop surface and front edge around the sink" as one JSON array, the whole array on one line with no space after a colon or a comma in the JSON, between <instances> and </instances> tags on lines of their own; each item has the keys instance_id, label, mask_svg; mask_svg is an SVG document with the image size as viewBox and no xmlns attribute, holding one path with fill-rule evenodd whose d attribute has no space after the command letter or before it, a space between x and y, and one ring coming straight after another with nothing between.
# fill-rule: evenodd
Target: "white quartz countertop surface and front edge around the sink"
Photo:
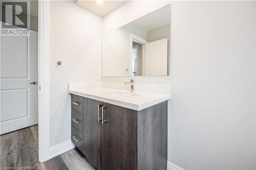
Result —
<instances>
[{"instance_id":1,"label":"white quartz countertop surface and front edge around the sink","mask_svg":"<svg viewBox=\"0 0 256 170\"><path fill-rule=\"evenodd\" d=\"M113 91L124 91L124 90L105 89L106 92L98 92L102 89L103 88L98 89L98 90L97 89L94 89L94 90L91 90L91 89L90 90L89 89L73 90L72 89L72 90L69 90L69 93L83 96L85 98L121 106L124 108L137 110L137 111L143 110L145 108L154 106L156 104L159 104L161 102L164 102L164 101L167 101L170 99L170 95L167 95L167 94L157 94L157 93L154 94L154 93L145 93L145 92L138 92L138 93L141 93L142 95L139 98L133 99L133 100L130 100L129 98L116 99L115 97L108 96L105 93L113 92ZM124 91L124 92L127 92L127 91ZM137 91L136 91L136 93L137 93ZM148 96L150 96L151 99L148 99ZM143 97L146 99L144 99ZM136 97L134 97L134 98L136 98Z\"/></svg>"}]
</instances>

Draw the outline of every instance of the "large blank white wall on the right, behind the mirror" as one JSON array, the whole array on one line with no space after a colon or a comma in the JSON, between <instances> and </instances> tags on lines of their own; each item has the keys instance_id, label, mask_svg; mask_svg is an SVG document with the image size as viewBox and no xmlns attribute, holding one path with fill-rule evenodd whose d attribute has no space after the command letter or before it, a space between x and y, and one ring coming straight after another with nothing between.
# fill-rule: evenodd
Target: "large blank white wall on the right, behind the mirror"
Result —
<instances>
[{"instance_id":1,"label":"large blank white wall on the right, behind the mirror","mask_svg":"<svg viewBox=\"0 0 256 170\"><path fill-rule=\"evenodd\" d=\"M167 3L127 2L103 18L103 32ZM135 78L172 82L168 161L185 169L255 169L255 2L170 4L171 76Z\"/></svg>"}]
</instances>

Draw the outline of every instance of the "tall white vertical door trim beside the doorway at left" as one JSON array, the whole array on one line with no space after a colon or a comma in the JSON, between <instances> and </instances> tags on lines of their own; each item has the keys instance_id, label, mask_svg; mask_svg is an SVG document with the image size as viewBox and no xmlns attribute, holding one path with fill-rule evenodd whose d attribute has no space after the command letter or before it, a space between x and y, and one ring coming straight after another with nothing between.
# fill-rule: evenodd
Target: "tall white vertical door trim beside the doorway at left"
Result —
<instances>
[{"instance_id":1,"label":"tall white vertical door trim beside the doorway at left","mask_svg":"<svg viewBox=\"0 0 256 170\"><path fill-rule=\"evenodd\" d=\"M39 161L49 160L49 20L50 2L38 3L38 148Z\"/></svg>"}]
</instances>

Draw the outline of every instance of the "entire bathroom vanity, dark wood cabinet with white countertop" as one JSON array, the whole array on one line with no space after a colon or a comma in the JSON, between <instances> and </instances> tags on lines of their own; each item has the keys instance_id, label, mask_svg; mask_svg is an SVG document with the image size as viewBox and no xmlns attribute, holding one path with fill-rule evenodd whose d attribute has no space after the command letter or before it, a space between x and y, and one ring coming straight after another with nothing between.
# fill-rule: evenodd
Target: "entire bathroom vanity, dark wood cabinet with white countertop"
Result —
<instances>
[{"instance_id":1,"label":"entire bathroom vanity, dark wood cabinet with white countertop","mask_svg":"<svg viewBox=\"0 0 256 170\"><path fill-rule=\"evenodd\" d=\"M71 139L96 169L166 169L169 95L70 89Z\"/></svg>"}]
</instances>

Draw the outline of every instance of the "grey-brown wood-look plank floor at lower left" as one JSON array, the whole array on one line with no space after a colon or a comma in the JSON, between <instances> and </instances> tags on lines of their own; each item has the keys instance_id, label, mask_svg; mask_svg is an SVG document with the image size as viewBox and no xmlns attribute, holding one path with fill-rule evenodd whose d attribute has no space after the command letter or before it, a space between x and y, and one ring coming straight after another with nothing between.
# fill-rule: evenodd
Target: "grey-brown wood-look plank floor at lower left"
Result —
<instances>
[{"instance_id":1,"label":"grey-brown wood-look plank floor at lower left","mask_svg":"<svg viewBox=\"0 0 256 170\"><path fill-rule=\"evenodd\" d=\"M1 135L0 149L0 169L94 169L76 149L40 163L37 125Z\"/></svg>"}]
</instances>

